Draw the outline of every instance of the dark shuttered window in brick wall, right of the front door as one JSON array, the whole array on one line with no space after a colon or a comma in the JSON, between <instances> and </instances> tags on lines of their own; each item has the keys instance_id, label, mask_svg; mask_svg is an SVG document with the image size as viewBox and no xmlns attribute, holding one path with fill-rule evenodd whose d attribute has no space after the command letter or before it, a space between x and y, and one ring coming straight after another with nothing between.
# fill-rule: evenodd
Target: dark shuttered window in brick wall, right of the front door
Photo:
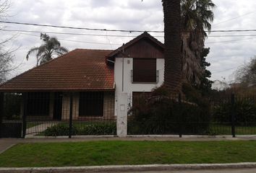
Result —
<instances>
[{"instance_id":1,"label":"dark shuttered window in brick wall, right of the front door","mask_svg":"<svg viewBox=\"0 0 256 173\"><path fill-rule=\"evenodd\" d=\"M79 116L103 117L103 92L80 92Z\"/></svg>"}]
</instances>

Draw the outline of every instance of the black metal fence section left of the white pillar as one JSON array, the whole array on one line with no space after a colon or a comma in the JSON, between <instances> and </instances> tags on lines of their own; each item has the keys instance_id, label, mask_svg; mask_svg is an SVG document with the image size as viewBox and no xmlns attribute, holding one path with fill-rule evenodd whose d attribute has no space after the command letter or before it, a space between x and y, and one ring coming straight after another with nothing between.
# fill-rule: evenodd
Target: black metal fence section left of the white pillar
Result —
<instances>
[{"instance_id":1,"label":"black metal fence section left of the white pillar","mask_svg":"<svg viewBox=\"0 0 256 173\"><path fill-rule=\"evenodd\" d=\"M2 138L116 135L114 92L4 93Z\"/></svg>"}]
</instances>

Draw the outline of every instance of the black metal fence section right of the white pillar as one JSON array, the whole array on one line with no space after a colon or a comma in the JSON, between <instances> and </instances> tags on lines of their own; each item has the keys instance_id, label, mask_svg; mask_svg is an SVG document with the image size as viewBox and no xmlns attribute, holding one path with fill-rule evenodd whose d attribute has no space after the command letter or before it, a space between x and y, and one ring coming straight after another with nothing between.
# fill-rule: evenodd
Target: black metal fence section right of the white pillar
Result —
<instances>
[{"instance_id":1,"label":"black metal fence section right of the white pillar","mask_svg":"<svg viewBox=\"0 0 256 173\"><path fill-rule=\"evenodd\" d=\"M129 135L256 135L256 99L234 94L189 99L129 98Z\"/></svg>"}]
</instances>

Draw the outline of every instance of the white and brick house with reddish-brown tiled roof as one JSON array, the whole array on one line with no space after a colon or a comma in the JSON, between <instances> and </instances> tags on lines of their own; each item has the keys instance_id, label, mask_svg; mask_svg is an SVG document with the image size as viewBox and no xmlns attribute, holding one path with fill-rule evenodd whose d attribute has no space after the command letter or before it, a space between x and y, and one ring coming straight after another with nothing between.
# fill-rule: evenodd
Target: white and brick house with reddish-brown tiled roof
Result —
<instances>
[{"instance_id":1,"label":"white and brick house with reddish-brown tiled roof","mask_svg":"<svg viewBox=\"0 0 256 173\"><path fill-rule=\"evenodd\" d=\"M163 51L147 32L117 50L72 50L1 84L0 92L27 93L29 117L68 120L72 94L74 120L111 120L121 93L132 98L163 84Z\"/></svg>"}]
</instances>

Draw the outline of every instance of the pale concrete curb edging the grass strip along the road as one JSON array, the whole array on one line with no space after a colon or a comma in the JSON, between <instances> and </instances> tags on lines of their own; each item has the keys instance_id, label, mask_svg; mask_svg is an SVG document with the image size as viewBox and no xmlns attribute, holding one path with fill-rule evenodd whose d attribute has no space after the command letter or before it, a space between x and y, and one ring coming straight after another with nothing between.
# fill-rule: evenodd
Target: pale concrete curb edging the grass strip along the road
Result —
<instances>
[{"instance_id":1,"label":"pale concrete curb edging the grass strip along the road","mask_svg":"<svg viewBox=\"0 0 256 173\"><path fill-rule=\"evenodd\" d=\"M0 168L0 173L59 173L59 172L148 172L203 169L249 169L256 163L239 164L150 164L97 167L43 167L43 168Z\"/></svg>"}]
</instances>

